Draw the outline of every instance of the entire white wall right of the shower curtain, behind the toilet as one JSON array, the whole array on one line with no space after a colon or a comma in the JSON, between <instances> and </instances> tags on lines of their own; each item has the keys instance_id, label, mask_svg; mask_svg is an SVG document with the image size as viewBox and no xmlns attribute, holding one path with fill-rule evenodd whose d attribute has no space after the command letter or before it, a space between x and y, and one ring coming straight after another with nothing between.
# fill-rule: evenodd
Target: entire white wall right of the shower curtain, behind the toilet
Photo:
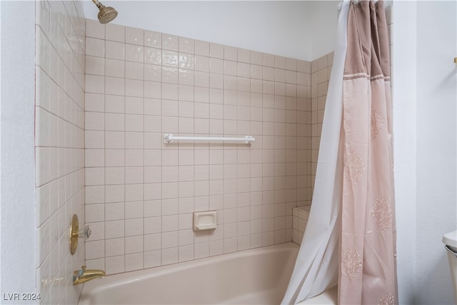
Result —
<instances>
[{"instance_id":1,"label":"entire white wall right of the shower curtain, behind the toilet","mask_svg":"<svg viewBox=\"0 0 457 305\"><path fill-rule=\"evenodd\" d=\"M396 1L393 16L400 301L454 304L441 237L457 222L456 1Z\"/></svg>"}]
</instances>

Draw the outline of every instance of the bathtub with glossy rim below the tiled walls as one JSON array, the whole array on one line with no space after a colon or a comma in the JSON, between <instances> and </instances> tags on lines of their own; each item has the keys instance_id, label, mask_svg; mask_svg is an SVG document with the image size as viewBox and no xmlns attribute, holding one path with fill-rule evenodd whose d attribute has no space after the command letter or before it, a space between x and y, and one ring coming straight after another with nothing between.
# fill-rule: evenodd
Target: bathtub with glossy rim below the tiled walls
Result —
<instances>
[{"instance_id":1,"label":"bathtub with glossy rim below the tiled walls","mask_svg":"<svg viewBox=\"0 0 457 305\"><path fill-rule=\"evenodd\" d=\"M278 244L86 282L79 304L280 304L298 245Z\"/></svg>"}]
</instances>

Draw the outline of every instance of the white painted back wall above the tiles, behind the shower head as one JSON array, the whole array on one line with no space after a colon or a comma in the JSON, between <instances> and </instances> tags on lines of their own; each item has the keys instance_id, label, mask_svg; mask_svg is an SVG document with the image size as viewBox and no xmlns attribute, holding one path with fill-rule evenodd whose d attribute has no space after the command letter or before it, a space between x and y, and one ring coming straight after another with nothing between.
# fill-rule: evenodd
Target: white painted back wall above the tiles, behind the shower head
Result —
<instances>
[{"instance_id":1,"label":"white painted back wall above the tiles, behind the shower head","mask_svg":"<svg viewBox=\"0 0 457 305\"><path fill-rule=\"evenodd\" d=\"M313 1L102 1L119 11L112 23L311 60ZM325 2L325 1L324 1ZM98 9L84 1L84 14ZM332 16L336 16L336 6Z\"/></svg>"}]
</instances>

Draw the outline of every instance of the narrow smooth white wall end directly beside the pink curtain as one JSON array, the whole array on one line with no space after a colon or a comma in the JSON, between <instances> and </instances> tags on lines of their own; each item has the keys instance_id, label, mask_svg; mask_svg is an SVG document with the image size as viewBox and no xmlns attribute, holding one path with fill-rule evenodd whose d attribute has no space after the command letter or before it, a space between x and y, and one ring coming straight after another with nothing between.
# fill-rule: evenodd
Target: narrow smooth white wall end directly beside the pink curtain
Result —
<instances>
[{"instance_id":1,"label":"narrow smooth white wall end directly beside the pink curtain","mask_svg":"<svg viewBox=\"0 0 457 305\"><path fill-rule=\"evenodd\" d=\"M408 22L403 22L408 20ZM416 289L416 2L393 4L393 134L400 304Z\"/></svg>"}]
</instances>

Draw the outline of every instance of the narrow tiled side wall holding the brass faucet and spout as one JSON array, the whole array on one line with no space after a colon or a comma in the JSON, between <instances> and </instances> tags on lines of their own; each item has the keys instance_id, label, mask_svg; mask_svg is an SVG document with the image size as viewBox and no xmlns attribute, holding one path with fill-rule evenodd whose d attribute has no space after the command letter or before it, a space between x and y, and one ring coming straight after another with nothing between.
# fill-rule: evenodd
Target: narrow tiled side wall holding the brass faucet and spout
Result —
<instances>
[{"instance_id":1,"label":"narrow tiled side wall holding the brass faucet and spout","mask_svg":"<svg viewBox=\"0 0 457 305\"><path fill-rule=\"evenodd\" d=\"M84 38L80 1L36 1L36 292L42 304L76 304L69 251L72 214L84 224Z\"/></svg>"}]
</instances>

